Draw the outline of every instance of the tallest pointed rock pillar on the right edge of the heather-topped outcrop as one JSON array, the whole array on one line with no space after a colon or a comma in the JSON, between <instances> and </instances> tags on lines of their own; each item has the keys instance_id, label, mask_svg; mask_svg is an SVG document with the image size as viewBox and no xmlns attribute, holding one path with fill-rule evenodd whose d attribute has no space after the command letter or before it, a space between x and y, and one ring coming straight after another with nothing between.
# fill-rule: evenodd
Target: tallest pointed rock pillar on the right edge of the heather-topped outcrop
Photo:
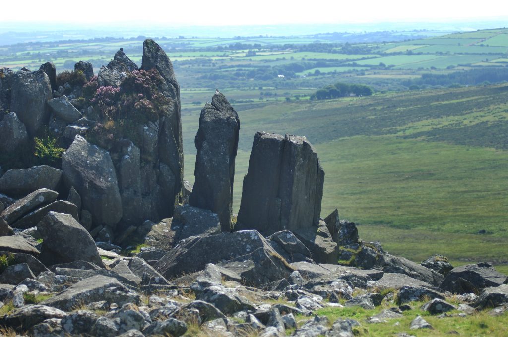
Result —
<instances>
[{"instance_id":1,"label":"tallest pointed rock pillar on the right edge of the heather-topped outcrop","mask_svg":"<svg viewBox=\"0 0 508 337\"><path fill-rule=\"evenodd\" d=\"M156 167L156 170L160 170L162 176L158 179L157 186L162 187L161 193L163 199L165 199L166 209L165 212L159 211L159 213L163 217L170 217L173 215L174 207L182 202L183 146L180 87L176 81L173 65L168 55L161 46L151 39L146 39L143 43L141 69L146 71L156 69L166 82L166 85L159 88L159 90L172 100L166 116L158 121L157 154L159 162Z\"/></svg>"}]
</instances>

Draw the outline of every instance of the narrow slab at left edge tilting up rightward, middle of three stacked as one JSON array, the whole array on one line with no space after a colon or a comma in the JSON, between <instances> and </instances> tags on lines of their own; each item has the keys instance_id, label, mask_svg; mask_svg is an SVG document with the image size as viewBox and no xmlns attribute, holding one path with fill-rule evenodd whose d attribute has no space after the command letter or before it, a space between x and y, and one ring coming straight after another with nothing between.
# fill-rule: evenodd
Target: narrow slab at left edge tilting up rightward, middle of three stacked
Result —
<instances>
[{"instance_id":1,"label":"narrow slab at left edge tilting up rightward, middle of three stacked","mask_svg":"<svg viewBox=\"0 0 508 337\"><path fill-rule=\"evenodd\" d=\"M40 208L45 204L51 203L58 196L55 191L47 188L41 188L37 191L31 192L27 196L17 200L14 204L9 206L2 212L2 217L8 224L21 218L23 215Z\"/></svg>"}]
</instances>

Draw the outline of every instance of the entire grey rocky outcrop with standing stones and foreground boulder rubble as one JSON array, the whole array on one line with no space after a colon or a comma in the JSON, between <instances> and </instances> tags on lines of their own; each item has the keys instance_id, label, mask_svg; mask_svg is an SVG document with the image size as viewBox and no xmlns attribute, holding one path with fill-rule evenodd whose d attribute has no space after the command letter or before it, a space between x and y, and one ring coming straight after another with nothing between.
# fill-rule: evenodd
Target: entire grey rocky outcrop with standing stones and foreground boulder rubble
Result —
<instances>
[{"instance_id":1,"label":"entire grey rocky outcrop with standing stones and foreground boulder rubble","mask_svg":"<svg viewBox=\"0 0 508 337\"><path fill-rule=\"evenodd\" d=\"M120 48L97 76L83 61L0 69L0 334L353 336L395 323L409 336L434 317L506 315L508 277L492 265L418 264L363 242L338 210L321 218L325 172L305 137L254 135L233 214L239 132L217 90L196 182L183 181L180 88L150 39L141 66ZM373 314L325 315L348 307Z\"/></svg>"}]
</instances>

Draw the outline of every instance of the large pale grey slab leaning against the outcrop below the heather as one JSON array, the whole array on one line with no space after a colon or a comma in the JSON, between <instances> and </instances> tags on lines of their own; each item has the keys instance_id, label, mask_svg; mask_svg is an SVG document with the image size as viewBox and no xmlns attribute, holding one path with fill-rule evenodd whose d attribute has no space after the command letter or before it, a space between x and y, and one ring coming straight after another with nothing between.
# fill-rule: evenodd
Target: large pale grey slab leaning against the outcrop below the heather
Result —
<instances>
[{"instance_id":1,"label":"large pale grey slab leaning against the outcrop below the heather","mask_svg":"<svg viewBox=\"0 0 508 337\"><path fill-rule=\"evenodd\" d=\"M62 171L69 186L81 195L83 208L97 224L115 225L122 217L122 201L109 153L83 137L62 155Z\"/></svg>"}]
</instances>

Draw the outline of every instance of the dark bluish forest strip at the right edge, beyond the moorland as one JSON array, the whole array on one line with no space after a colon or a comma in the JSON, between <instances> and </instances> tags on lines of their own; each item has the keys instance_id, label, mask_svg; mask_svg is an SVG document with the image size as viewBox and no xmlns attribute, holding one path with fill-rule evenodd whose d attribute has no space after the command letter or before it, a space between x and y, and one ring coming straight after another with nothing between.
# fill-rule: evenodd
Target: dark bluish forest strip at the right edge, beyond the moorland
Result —
<instances>
[{"instance_id":1,"label":"dark bluish forest strip at the right edge, beyond the moorland","mask_svg":"<svg viewBox=\"0 0 508 337\"><path fill-rule=\"evenodd\" d=\"M465 72L455 72L446 75L423 74L419 79L402 82L408 88L418 89L419 86L450 86L477 85L485 82L499 83L508 81L508 68L473 69Z\"/></svg>"}]
</instances>

